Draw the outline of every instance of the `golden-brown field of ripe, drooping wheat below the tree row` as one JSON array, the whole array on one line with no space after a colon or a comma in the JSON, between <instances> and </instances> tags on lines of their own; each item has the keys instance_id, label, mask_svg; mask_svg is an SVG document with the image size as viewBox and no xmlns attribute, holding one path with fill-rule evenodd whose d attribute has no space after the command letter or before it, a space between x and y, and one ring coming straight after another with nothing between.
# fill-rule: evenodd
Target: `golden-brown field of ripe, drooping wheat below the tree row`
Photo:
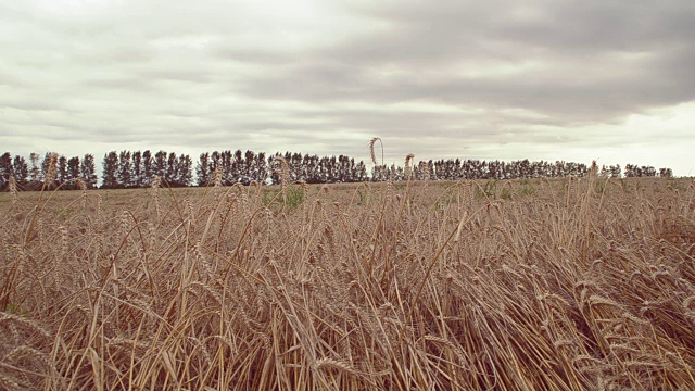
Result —
<instances>
[{"instance_id":1,"label":"golden-brown field of ripe, drooping wheat below the tree row","mask_svg":"<svg viewBox=\"0 0 695 391\"><path fill-rule=\"evenodd\" d=\"M695 389L691 179L0 193L0 389Z\"/></svg>"}]
</instances>

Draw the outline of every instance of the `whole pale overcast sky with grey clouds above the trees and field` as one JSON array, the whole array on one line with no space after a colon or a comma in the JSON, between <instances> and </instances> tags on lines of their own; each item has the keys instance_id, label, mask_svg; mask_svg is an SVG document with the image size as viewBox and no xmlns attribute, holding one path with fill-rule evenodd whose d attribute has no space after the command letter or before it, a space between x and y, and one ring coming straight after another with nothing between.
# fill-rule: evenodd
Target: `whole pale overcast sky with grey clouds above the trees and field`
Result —
<instances>
[{"instance_id":1,"label":"whole pale overcast sky with grey clouds above the trees and field","mask_svg":"<svg viewBox=\"0 0 695 391\"><path fill-rule=\"evenodd\" d=\"M695 176L692 0L0 0L0 152Z\"/></svg>"}]
</instances>

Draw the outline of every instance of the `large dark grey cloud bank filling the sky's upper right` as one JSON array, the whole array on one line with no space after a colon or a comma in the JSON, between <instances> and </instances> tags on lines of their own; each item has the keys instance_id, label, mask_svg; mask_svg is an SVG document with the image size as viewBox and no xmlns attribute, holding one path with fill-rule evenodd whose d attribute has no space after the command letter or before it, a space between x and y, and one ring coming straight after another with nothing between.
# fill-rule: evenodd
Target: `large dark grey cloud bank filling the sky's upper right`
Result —
<instances>
[{"instance_id":1,"label":"large dark grey cloud bank filling the sky's upper right","mask_svg":"<svg viewBox=\"0 0 695 391\"><path fill-rule=\"evenodd\" d=\"M393 27L268 67L242 88L253 98L309 102L422 99L517 106L568 125L610 123L695 98L687 72L695 24L685 23L695 20L694 3L546 2L528 11L540 16L527 20L505 17L500 9L506 3L399 2L362 10ZM533 61L542 66L521 67ZM451 74L457 64L520 70L508 76ZM390 68L396 76L377 76Z\"/></svg>"}]
</instances>

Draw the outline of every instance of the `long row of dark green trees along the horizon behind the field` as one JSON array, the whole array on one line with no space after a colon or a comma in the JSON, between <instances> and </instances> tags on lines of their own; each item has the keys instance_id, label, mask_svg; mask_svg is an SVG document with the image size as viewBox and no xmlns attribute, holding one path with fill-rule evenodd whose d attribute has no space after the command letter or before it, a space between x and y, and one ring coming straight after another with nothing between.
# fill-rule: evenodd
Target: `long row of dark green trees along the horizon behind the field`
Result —
<instances>
[{"instance_id":1,"label":"long row of dark green trees along the horizon behind the field","mask_svg":"<svg viewBox=\"0 0 695 391\"><path fill-rule=\"evenodd\" d=\"M53 169L51 169L53 165ZM383 180L460 180L460 179L519 179L519 178L563 178L583 177L590 167L574 162L545 162L519 160L437 160L421 161L418 164L391 166L374 165L370 174L363 161L355 162L346 155L323 156L301 153L242 152L241 150L214 151L200 154L194 163L188 154L157 151L111 151L101 162L102 189L143 188L152 185L155 177L169 187L207 186L218 182L222 186L233 184L249 185L257 181L268 185L286 180L303 180L308 184L362 182ZM671 168L627 164L604 165L599 175L605 178L620 177L671 177ZM46 153L43 157L31 153L27 161L24 156L5 152L0 156L0 190L5 190L14 177L16 184L25 190L48 188L76 189L77 179L87 188L98 187L94 156L83 157Z\"/></svg>"}]
</instances>

